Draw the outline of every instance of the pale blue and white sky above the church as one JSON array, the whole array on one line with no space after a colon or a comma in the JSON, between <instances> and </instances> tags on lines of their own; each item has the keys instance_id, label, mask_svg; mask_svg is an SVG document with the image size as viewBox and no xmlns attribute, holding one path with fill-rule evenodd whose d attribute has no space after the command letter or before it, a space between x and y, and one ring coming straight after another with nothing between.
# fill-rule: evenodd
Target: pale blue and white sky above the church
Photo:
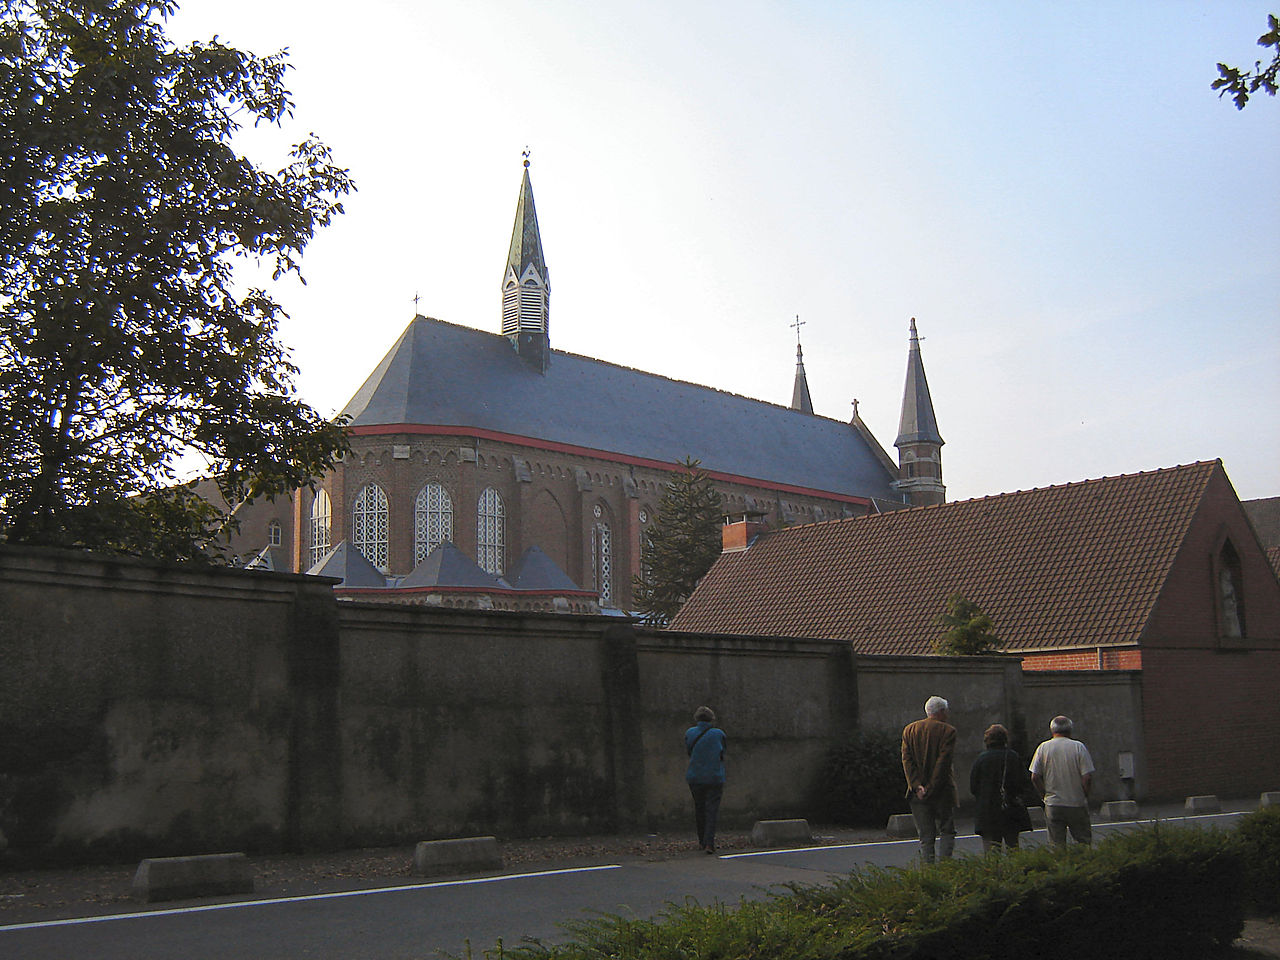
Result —
<instances>
[{"instance_id":1,"label":"pale blue and white sky above the church","mask_svg":"<svg viewBox=\"0 0 1280 960\"><path fill-rule=\"evenodd\" d=\"M1221 458L1280 495L1272 4L187 0L288 47L358 192L275 285L338 412L416 310L497 333L522 151L557 349L814 411L893 452L916 319L948 499ZM690 452L696 456L696 451Z\"/></svg>"}]
</instances>

